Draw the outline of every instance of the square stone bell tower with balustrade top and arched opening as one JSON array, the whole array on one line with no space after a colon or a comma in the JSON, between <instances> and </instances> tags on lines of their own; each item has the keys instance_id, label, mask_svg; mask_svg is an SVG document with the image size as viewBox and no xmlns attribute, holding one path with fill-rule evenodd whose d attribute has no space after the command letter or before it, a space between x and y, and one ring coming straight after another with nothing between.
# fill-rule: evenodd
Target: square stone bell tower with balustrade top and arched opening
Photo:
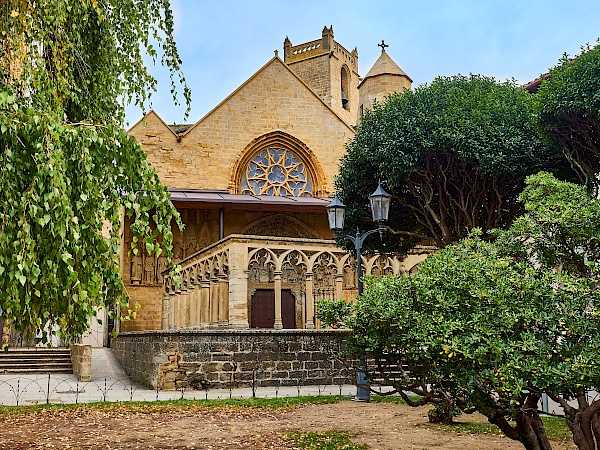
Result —
<instances>
[{"instance_id":1,"label":"square stone bell tower with balustrade top and arched opening","mask_svg":"<svg viewBox=\"0 0 600 450\"><path fill-rule=\"evenodd\" d=\"M284 62L346 123L358 117L358 51L346 50L325 26L321 38L300 45L283 42Z\"/></svg>"}]
</instances>

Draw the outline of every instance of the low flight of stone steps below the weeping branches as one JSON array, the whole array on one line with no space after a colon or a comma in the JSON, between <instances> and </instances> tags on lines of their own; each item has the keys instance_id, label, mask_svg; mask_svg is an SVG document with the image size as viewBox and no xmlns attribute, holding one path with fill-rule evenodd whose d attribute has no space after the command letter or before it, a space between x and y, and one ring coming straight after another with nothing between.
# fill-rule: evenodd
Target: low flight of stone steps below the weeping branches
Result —
<instances>
[{"instance_id":1,"label":"low flight of stone steps below the weeping branches","mask_svg":"<svg viewBox=\"0 0 600 450\"><path fill-rule=\"evenodd\" d=\"M0 351L2 374L73 373L71 351L65 348L14 348Z\"/></svg>"}]
</instances>

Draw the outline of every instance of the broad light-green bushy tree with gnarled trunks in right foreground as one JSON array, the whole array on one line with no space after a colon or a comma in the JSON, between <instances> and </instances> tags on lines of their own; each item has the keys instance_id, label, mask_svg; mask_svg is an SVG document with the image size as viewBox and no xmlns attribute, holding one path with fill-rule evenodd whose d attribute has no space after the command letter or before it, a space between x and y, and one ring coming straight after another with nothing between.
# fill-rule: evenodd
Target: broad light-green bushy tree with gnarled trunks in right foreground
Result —
<instances>
[{"instance_id":1,"label":"broad light-green bushy tree with gnarled trunks in right foreground","mask_svg":"<svg viewBox=\"0 0 600 450\"><path fill-rule=\"evenodd\" d=\"M479 411L527 449L551 448L546 393L577 447L597 449L600 200L547 173L527 183L527 213L493 242L475 233L415 276L370 279L343 319L347 356L366 354L408 404Z\"/></svg>"}]
</instances>

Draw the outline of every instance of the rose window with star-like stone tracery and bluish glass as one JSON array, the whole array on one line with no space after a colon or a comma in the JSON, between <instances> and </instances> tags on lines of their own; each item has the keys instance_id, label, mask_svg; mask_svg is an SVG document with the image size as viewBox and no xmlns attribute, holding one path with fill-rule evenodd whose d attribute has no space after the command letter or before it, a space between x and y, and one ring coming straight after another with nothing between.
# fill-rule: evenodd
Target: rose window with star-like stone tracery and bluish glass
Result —
<instances>
[{"instance_id":1,"label":"rose window with star-like stone tracery and bluish glass","mask_svg":"<svg viewBox=\"0 0 600 450\"><path fill-rule=\"evenodd\" d=\"M248 164L242 193L252 195L312 196L312 182L304 163L283 149L261 151Z\"/></svg>"}]
</instances>

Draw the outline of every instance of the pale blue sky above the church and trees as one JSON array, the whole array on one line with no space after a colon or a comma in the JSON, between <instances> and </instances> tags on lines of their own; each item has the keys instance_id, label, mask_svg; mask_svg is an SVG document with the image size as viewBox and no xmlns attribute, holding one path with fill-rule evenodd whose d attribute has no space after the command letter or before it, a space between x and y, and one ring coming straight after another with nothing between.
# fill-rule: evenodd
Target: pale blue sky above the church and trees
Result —
<instances>
[{"instance_id":1,"label":"pale blue sky above the church and trees","mask_svg":"<svg viewBox=\"0 0 600 450\"><path fill-rule=\"evenodd\" d=\"M333 25L335 40L358 48L363 76L382 39L388 54L413 79L479 73L519 83L577 54L600 37L600 0L172 0L175 39L192 89L194 123L273 57L321 36ZM170 97L168 73L159 79L151 107L167 122L182 123L184 107ZM130 124L139 109L128 108Z\"/></svg>"}]
</instances>

